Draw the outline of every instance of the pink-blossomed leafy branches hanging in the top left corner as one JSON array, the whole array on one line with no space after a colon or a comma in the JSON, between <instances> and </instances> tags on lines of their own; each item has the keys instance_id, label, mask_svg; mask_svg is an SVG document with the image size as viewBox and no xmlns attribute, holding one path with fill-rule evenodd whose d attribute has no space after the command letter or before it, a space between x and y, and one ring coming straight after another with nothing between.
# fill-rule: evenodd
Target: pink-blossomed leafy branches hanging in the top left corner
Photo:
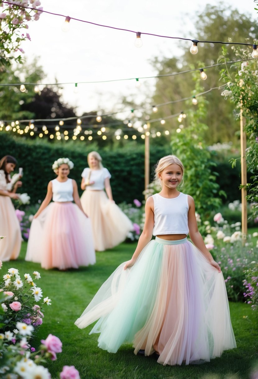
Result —
<instances>
[{"instance_id":1,"label":"pink-blossomed leafy branches hanging in the top left corner","mask_svg":"<svg viewBox=\"0 0 258 379\"><path fill-rule=\"evenodd\" d=\"M5 70L12 61L22 62L22 41L30 40L30 34L26 33L28 22L38 20L42 13L40 1L16 0L13 4L0 3L0 26L2 30L0 39L0 72ZM26 9L31 6L35 9ZM21 6L20 6L21 5ZM18 51L18 54L16 53Z\"/></svg>"}]
</instances>

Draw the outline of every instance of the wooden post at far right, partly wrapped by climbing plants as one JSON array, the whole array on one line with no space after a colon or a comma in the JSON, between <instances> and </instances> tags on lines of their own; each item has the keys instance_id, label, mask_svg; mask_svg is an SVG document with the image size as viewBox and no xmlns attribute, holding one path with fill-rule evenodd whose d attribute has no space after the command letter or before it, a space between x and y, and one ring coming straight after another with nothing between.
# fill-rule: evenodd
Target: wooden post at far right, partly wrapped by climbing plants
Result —
<instances>
[{"instance_id":1,"label":"wooden post at far right, partly wrapped by climbing plants","mask_svg":"<svg viewBox=\"0 0 258 379\"><path fill-rule=\"evenodd\" d=\"M243 125L243 110L240 108L240 142L241 142L241 202L242 202L242 243L247 237L247 168L246 168L246 132Z\"/></svg>"}]
</instances>

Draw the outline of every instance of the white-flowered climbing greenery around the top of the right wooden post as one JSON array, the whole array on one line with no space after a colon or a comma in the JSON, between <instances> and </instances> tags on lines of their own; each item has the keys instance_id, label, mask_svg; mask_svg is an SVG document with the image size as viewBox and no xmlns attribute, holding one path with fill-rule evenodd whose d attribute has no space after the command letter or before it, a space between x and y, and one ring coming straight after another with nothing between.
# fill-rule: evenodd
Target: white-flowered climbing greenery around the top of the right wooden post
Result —
<instances>
[{"instance_id":1,"label":"white-flowered climbing greenery around the top of the right wooden post","mask_svg":"<svg viewBox=\"0 0 258 379\"><path fill-rule=\"evenodd\" d=\"M227 89L222 96L229 98L238 110L238 117L242 109L242 115L246 120L245 130L249 137L246 149L247 169L252 173L251 180L247 183L247 200L258 203L258 88L257 88L257 61L250 60L250 47L233 47L235 55L244 62L233 64L233 72L227 65L221 69L221 78L227 83ZM228 48L222 47L220 62L227 63ZM232 160L232 166L236 160ZM254 214L258 215L258 205L254 207Z\"/></svg>"}]
</instances>

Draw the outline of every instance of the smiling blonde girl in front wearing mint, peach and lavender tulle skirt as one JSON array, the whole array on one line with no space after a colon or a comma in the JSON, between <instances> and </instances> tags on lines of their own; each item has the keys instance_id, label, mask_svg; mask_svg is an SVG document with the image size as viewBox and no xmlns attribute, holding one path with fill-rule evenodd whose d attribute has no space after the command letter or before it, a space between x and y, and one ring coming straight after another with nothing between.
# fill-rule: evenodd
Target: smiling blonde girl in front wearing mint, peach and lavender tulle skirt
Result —
<instances>
[{"instance_id":1,"label":"smiling blonde girl in front wearing mint, peach and lavender tulle skirt","mask_svg":"<svg viewBox=\"0 0 258 379\"><path fill-rule=\"evenodd\" d=\"M209 362L236 347L221 268L205 247L194 200L178 191L183 165L174 155L158 162L162 189L146 200L146 220L131 260L106 280L75 324L98 346L155 354L163 365ZM192 242L187 240L187 235ZM152 234L155 240L151 240Z\"/></svg>"}]
</instances>

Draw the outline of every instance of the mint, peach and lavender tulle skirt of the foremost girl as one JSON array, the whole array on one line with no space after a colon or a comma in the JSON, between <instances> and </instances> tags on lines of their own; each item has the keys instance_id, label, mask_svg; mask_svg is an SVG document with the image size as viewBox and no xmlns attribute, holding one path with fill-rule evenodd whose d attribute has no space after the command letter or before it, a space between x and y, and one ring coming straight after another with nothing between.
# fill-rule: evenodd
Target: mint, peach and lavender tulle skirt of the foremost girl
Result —
<instances>
[{"instance_id":1,"label":"mint, peach and lavender tulle skirt of the foremost girl","mask_svg":"<svg viewBox=\"0 0 258 379\"><path fill-rule=\"evenodd\" d=\"M236 347L222 273L187 239L152 240L134 266L122 263L75 322L98 346L160 354L163 365L209 362Z\"/></svg>"}]
</instances>

